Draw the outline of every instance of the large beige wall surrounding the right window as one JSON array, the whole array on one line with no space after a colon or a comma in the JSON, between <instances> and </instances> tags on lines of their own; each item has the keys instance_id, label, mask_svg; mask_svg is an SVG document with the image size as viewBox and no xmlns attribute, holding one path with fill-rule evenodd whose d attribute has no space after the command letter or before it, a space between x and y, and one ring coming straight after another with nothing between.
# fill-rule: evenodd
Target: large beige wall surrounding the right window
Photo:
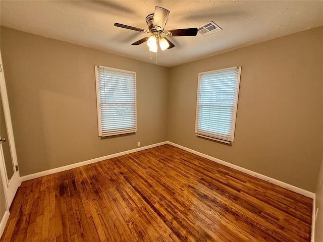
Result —
<instances>
[{"instance_id":1,"label":"large beige wall surrounding the right window","mask_svg":"<svg viewBox=\"0 0 323 242\"><path fill-rule=\"evenodd\" d=\"M171 68L168 140L314 192L322 159L322 32L310 29ZM198 73L233 66L242 66L234 143L196 137Z\"/></svg>"}]
</instances>

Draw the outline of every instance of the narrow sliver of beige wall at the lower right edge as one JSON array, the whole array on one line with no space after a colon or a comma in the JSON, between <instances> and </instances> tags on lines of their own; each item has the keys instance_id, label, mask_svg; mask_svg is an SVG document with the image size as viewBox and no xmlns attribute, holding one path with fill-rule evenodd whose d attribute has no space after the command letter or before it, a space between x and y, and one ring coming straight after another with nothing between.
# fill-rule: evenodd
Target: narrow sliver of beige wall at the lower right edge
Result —
<instances>
[{"instance_id":1,"label":"narrow sliver of beige wall at the lower right edge","mask_svg":"<svg viewBox=\"0 0 323 242\"><path fill-rule=\"evenodd\" d=\"M315 221L315 241L323 241L323 161L319 171L316 185L315 206L318 208L317 218Z\"/></svg>"}]
</instances>

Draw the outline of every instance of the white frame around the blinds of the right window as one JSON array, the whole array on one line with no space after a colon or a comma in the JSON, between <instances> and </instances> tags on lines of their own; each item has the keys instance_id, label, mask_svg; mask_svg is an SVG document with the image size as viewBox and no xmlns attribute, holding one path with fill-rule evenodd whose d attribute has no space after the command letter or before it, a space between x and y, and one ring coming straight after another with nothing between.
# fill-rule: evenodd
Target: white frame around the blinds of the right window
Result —
<instances>
[{"instance_id":1,"label":"white frame around the blinds of the right window","mask_svg":"<svg viewBox=\"0 0 323 242\"><path fill-rule=\"evenodd\" d=\"M221 134L221 133L215 133L215 132L210 132L210 131L206 131L206 130L204 130L204 132L198 131L198 120L199 120L198 119L198 110L199 110L199 97L200 97L200 92L201 92L200 91L201 76L203 74L217 73L217 72L222 72L222 71L226 71L226 70L234 70L234 69L237 69L238 73L237 73L237 79L236 79L236 98L235 98L235 103L233 106L233 117L232 117L232 124L231 124L232 132L230 134L230 138L223 137L224 134ZM227 144L234 142L234 134L235 134L236 118L237 118L237 107L238 107L238 99L239 99L240 77L241 77L241 67L237 67L237 66L198 73L196 113L195 113L195 135L196 136L210 139L210 140L216 140L216 141L227 143Z\"/></svg>"}]
</instances>

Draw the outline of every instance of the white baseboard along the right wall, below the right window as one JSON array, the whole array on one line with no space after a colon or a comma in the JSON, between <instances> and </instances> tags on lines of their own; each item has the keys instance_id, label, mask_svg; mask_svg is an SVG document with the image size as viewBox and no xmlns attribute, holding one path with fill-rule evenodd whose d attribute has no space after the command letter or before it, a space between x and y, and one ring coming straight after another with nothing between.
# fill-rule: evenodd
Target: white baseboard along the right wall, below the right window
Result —
<instances>
[{"instance_id":1,"label":"white baseboard along the right wall, below the right window","mask_svg":"<svg viewBox=\"0 0 323 242\"><path fill-rule=\"evenodd\" d=\"M237 165L231 164L231 163L229 163L229 162L226 162L226 161L220 160L220 159L218 159L218 158L214 158L214 157L212 157L212 156L209 156L209 155L206 155L206 154L200 153L200 152L198 152L198 151L195 151L195 150L192 150L192 149L186 148L185 146L181 146L181 145L175 144L175 143L170 142L170 141L168 141L167 143L168 143L168 144L170 144L170 145L173 145L173 146L175 146L175 147L178 147L178 148L180 148L180 149L183 149L183 150L186 150L186 151L188 151L188 152L191 152L191 153L193 153L193 154L195 154L195 155L198 155L198 156L204 157L204 158L209 159L209 160L211 160L211 161L215 161L215 162L220 163L220 164L222 164L222 165L225 165L225 166L231 167L231 168L233 168L233 169L235 169L235 170L239 170L239 171L241 171L241 172L243 172L243 173L246 173L246 174L248 174L248 175L252 175L252 176L255 176L255 177L259 178L259 179L262 179L262 180L268 181L269 183L275 184L275 185L280 186L280 187L282 187L282 188L286 188L286 189L288 189L288 190L290 190L290 191L293 191L293 192L295 192L295 193L301 194L301 195L303 195L303 196L305 196L305 197L312 198L312 199L314 199L314 198L315 198L315 193L308 192L308 191L306 191L306 190L304 190L304 189L301 189L301 188L295 187L295 186L290 185L290 184L288 184L288 183L284 183L283 181L276 180L276 179L274 179L274 178L272 178L272 177L268 177L268 176L262 175L262 174L260 174L260 173L254 172L254 171L252 171L252 170L248 170L248 169L246 169L246 168L242 168L242 167L240 167L240 166L237 166Z\"/></svg>"}]
</instances>

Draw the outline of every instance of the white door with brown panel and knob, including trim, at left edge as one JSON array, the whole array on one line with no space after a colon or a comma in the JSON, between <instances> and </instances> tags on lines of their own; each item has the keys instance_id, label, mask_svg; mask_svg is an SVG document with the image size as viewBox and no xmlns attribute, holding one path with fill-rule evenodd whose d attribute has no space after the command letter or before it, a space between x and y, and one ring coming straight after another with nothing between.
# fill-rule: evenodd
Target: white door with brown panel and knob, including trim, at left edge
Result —
<instances>
[{"instance_id":1,"label":"white door with brown panel and knob, including trim, at left edge","mask_svg":"<svg viewBox=\"0 0 323 242\"><path fill-rule=\"evenodd\" d=\"M20 186L20 175L11 116L8 103L5 74L0 52L0 171L4 183L4 190L8 208Z\"/></svg>"}]
</instances>

